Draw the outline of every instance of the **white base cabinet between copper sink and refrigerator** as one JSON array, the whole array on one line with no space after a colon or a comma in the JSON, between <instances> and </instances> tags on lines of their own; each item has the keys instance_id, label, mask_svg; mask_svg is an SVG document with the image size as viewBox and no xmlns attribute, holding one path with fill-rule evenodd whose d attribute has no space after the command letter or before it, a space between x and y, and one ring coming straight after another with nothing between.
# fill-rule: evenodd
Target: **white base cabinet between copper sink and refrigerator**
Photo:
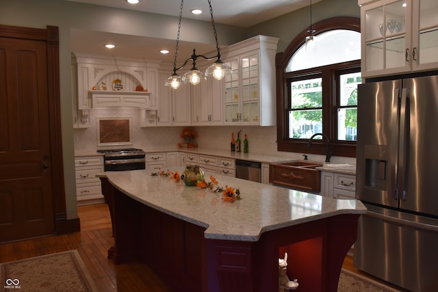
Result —
<instances>
[{"instance_id":1,"label":"white base cabinet between copper sink and refrigerator","mask_svg":"<svg viewBox=\"0 0 438 292\"><path fill-rule=\"evenodd\" d=\"M348 200L356 198L356 176L337 172L321 172L321 195Z\"/></svg>"}]
</instances>

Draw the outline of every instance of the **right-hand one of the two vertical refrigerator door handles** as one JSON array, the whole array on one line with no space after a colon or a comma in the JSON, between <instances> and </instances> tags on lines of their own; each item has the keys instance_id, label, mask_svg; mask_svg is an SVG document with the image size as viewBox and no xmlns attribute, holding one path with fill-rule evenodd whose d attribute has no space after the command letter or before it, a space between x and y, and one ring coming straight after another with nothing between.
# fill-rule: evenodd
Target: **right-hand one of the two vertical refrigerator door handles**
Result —
<instances>
[{"instance_id":1,"label":"right-hand one of the two vertical refrigerator door handles","mask_svg":"<svg viewBox=\"0 0 438 292\"><path fill-rule=\"evenodd\" d=\"M397 151L397 194L398 198L406 198L404 177L406 175L407 142L409 137L409 97L407 88L402 88L400 96L400 124L398 128L398 151Z\"/></svg>"}]
</instances>

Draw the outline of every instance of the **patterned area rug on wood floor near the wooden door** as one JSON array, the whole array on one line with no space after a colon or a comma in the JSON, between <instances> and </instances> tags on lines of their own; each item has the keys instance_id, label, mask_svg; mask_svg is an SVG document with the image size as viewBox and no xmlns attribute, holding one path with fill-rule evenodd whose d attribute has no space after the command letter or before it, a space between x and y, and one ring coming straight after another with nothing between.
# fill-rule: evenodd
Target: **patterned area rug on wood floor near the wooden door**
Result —
<instances>
[{"instance_id":1,"label":"patterned area rug on wood floor near the wooden door","mask_svg":"<svg viewBox=\"0 0 438 292\"><path fill-rule=\"evenodd\" d=\"M0 291L97 291L77 250L0 264Z\"/></svg>"}]
</instances>

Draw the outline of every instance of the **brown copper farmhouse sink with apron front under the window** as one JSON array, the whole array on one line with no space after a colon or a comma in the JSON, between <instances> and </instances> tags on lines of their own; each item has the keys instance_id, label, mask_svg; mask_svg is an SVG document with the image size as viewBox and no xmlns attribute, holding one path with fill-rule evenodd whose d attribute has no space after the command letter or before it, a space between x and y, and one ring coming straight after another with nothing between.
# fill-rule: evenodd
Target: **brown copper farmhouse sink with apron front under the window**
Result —
<instances>
[{"instance_id":1,"label":"brown copper farmhouse sink with apron front under the window","mask_svg":"<svg viewBox=\"0 0 438 292\"><path fill-rule=\"evenodd\" d=\"M274 185L298 189L301 191L320 192L321 173L317 170L322 163L292 161L270 164L269 182Z\"/></svg>"}]
</instances>

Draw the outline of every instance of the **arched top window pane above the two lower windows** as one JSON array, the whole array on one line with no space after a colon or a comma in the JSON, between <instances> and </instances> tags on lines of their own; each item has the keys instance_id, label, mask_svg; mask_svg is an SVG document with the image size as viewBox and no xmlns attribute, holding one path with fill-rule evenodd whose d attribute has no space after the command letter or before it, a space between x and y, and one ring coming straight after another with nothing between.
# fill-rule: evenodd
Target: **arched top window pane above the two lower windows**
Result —
<instances>
[{"instance_id":1,"label":"arched top window pane above the two lower windows","mask_svg":"<svg viewBox=\"0 0 438 292\"><path fill-rule=\"evenodd\" d=\"M361 34L348 29L335 29L315 37L317 48L306 51L303 44L292 55L285 72L294 72L329 64L361 59Z\"/></svg>"}]
</instances>

